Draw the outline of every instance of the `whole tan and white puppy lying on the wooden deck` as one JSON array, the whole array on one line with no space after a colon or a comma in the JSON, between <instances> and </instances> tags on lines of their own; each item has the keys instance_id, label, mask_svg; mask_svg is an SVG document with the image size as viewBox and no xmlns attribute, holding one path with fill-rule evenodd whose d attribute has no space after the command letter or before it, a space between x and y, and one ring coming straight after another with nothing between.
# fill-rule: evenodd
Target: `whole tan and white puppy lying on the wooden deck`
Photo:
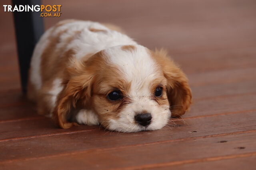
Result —
<instances>
[{"instance_id":1,"label":"whole tan and white puppy lying on the wooden deck","mask_svg":"<svg viewBox=\"0 0 256 170\"><path fill-rule=\"evenodd\" d=\"M28 98L62 128L100 123L138 132L183 115L191 90L165 51L150 51L113 25L64 20L34 49Z\"/></svg>"}]
</instances>

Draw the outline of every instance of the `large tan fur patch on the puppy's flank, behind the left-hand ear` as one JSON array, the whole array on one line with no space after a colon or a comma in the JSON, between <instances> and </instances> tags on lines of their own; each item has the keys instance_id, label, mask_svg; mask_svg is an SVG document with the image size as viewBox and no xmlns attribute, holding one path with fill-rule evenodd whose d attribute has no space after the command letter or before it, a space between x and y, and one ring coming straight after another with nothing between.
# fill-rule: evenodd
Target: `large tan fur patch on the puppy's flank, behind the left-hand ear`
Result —
<instances>
[{"instance_id":1,"label":"large tan fur patch on the puppy's flank, behind the left-hand ear","mask_svg":"<svg viewBox=\"0 0 256 170\"><path fill-rule=\"evenodd\" d=\"M65 22L67 23L67 22ZM64 23L63 23L64 24ZM59 25L56 25L52 31L55 31ZM42 89L39 90L37 94L37 107L38 113L40 114L49 114L52 108L49 106L49 101L51 94L48 92L52 89L53 82L56 78L63 80L64 68L67 67L69 60L72 58L74 52L72 49L64 52L66 46L75 39L76 35L80 31L75 31L73 35L70 35L65 39L65 44L61 48L56 48L58 43L60 43L60 35L66 33L67 30L62 30L54 37L50 37L50 43L44 49L44 52L41 56L41 75L42 75ZM63 43L63 42L62 42ZM31 94L30 94L31 95Z\"/></svg>"}]
</instances>

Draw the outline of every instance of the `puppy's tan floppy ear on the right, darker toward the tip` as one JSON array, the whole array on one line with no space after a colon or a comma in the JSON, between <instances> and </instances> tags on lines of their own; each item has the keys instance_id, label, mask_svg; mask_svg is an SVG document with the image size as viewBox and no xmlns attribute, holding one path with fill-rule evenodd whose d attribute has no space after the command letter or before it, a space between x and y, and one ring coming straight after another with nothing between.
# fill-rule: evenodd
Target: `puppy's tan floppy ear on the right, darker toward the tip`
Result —
<instances>
[{"instance_id":1,"label":"puppy's tan floppy ear on the right, darker toward the tip","mask_svg":"<svg viewBox=\"0 0 256 170\"><path fill-rule=\"evenodd\" d=\"M167 79L167 96L172 116L179 117L188 110L192 102L192 94L188 79L182 70L167 56L164 50L154 53L158 63L162 65L163 73Z\"/></svg>"}]
</instances>

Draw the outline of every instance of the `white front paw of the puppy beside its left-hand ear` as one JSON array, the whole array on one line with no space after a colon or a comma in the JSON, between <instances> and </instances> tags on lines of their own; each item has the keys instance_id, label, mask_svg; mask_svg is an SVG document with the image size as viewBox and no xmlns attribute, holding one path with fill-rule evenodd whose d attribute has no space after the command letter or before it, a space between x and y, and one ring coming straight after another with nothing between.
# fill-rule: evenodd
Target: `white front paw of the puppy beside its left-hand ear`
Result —
<instances>
[{"instance_id":1,"label":"white front paw of the puppy beside its left-hand ear","mask_svg":"<svg viewBox=\"0 0 256 170\"><path fill-rule=\"evenodd\" d=\"M76 121L79 124L98 125L98 116L91 110L81 109L76 115Z\"/></svg>"}]
</instances>

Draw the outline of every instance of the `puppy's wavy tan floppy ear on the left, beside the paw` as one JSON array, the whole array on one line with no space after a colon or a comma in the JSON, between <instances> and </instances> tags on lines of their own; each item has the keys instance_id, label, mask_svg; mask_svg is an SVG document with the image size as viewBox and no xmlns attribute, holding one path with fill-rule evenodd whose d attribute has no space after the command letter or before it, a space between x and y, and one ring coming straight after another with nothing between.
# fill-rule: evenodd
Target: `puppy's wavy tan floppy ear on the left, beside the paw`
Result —
<instances>
[{"instance_id":1,"label":"puppy's wavy tan floppy ear on the left, beside the paw","mask_svg":"<svg viewBox=\"0 0 256 170\"><path fill-rule=\"evenodd\" d=\"M60 127L69 128L77 125L74 122L68 122L69 113L78 104L86 105L86 101L91 96L93 78L82 63L76 63L76 66L68 68L65 74L64 88L57 97L53 118Z\"/></svg>"}]
</instances>

